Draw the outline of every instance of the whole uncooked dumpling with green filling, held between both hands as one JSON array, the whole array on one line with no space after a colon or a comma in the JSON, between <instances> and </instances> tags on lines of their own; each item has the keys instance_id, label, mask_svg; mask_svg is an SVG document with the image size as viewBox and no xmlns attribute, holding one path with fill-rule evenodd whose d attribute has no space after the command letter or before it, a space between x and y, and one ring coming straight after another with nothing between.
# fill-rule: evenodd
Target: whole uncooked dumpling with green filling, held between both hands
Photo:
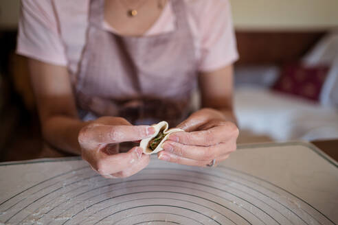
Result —
<instances>
[{"instance_id":1,"label":"whole uncooked dumpling with green filling, held between both hands","mask_svg":"<svg viewBox=\"0 0 338 225\"><path fill-rule=\"evenodd\" d=\"M172 128L168 130L169 125L166 121L161 121L153 125L153 127L155 128L155 134L148 139L143 139L141 143L139 143L139 147L142 147L144 154L155 154L164 150L161 145L164 141L166 141L169 134L184 131L179 128Z\"/></svg>"}]
</instances>

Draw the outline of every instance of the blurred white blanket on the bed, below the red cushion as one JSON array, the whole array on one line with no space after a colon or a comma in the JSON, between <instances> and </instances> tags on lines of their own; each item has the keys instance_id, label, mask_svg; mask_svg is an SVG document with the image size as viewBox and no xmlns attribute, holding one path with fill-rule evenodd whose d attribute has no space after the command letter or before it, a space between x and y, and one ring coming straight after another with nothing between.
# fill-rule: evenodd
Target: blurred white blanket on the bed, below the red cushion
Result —
<instances>
[{"instance_id":1,"label":"blurred white blanket on the bed, below the red cushion","mask_svg":"<svg viewBox=\"0 0 338 225\"><path fill-rule=\"evenodd\" d=\"M275 141L338 138L335 108L250 87L236 89L234 104L240 129Z\"/></svg>"}]
</instances>

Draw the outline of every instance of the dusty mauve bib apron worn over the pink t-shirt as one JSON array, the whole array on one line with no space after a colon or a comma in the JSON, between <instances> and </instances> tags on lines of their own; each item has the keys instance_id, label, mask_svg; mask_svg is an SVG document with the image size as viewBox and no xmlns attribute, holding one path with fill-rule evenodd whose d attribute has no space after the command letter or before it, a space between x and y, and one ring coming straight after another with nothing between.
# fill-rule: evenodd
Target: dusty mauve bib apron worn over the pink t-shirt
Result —
<instances>
[{"instance_id":1,"label":"dusty mauve bib apron worn over the pink t-shirt","mask_svg":"<svg viewBox=\"0 0 338 225\"><path fill-rule=\"evenodd\" d=\"M137 37L105 30L104 0L91 1L87 44L74 78L81 119L118 116L174 126L188 115L197 80L194 44L184 1L171 1L176 29Z\"/></svg>"}]
</instances>

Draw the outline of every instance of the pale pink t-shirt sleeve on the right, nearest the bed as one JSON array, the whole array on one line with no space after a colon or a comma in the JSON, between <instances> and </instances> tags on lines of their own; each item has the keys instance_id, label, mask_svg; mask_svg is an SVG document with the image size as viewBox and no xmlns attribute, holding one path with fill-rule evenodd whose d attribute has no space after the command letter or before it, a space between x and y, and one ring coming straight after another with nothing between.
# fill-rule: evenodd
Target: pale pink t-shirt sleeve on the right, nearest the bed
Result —
<instances>
[{"instance_id":1,"label":"pale pink t-shirt sleeve on the right, nearest the bed","mask_svg":"<svg viewBox=\"0 0 338 225\"><path fill-rule=\"evenodd\" d=\"M199 71L214 71L238 59L236 37L228 0L204 1L199 20L201 60Z\"/></svg>"}]
</instances>

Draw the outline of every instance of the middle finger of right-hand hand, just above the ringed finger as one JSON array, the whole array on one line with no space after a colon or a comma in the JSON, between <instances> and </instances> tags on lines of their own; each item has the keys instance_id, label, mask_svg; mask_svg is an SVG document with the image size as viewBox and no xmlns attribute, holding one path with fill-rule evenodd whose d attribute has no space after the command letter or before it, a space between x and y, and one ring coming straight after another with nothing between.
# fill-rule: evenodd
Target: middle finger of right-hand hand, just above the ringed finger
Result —
<instances>
[{"instance_id":1,"label":"middle finger of right-hand hand, just above the ringed finger","mask_svg":"<svg viewBox=\"0 0 338 225\"><path fill-rule=\"evenodd\" d=\"M196 146L196 145L183 145L174 141L166 141L163 144L166 152L181 156L183 158L190 158L197 161L211 161L218 156L232 152L236 148L231 142L220 143L211 146Z\"/></svg>"}]
</instances>

